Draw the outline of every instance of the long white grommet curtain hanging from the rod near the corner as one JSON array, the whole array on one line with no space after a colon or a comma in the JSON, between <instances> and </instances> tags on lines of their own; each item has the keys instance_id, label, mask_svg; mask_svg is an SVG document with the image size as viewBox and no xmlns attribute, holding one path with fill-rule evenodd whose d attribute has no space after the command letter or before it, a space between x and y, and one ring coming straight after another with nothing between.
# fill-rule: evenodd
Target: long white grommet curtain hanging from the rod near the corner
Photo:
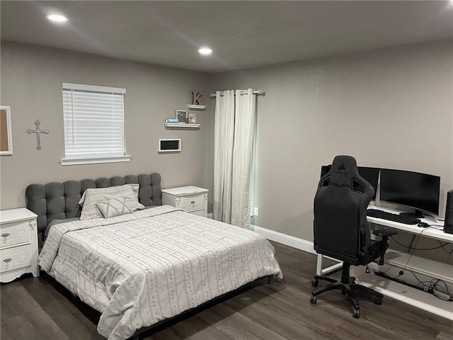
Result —
<instances>
[{"instance_id":1,"label":"long white grommet curtain hanging from the rod near the corner","mask_svg":"<svg viewBox=\"0 0 453 340\"><path fill-rule=\"evenodd\" d=\"M214 219L250 225L256 97L253 89L217 91L214 123Z\"/></svg>"}]
</instances>

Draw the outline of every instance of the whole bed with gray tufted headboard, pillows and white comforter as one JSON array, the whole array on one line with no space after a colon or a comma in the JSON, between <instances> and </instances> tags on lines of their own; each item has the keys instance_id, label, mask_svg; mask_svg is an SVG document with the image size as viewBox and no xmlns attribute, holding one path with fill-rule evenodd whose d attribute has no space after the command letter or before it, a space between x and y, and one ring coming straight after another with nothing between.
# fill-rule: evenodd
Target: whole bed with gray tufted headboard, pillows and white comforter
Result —
<instances>
[{"instance_id":1,"label":"whole bed with gray tufted headboard, pillows and white comforter","mask_svg":"<svg viewBox=\"0 0 453 340\"><path fill-rule=\"evenodd\" d=\"M45 235L42 270L101 312L109 340L138 339L258 278L282 279L260 234L161 205L159 174L31 184L25 196Z\"/></svg>"}]
</instances>

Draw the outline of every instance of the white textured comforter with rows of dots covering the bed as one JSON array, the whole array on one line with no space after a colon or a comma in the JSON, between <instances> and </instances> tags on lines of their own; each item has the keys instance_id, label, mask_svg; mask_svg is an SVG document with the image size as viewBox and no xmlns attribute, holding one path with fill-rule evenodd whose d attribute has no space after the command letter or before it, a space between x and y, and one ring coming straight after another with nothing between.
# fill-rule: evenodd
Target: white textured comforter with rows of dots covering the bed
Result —
<instances>
[{"instance_id":1,"label":"white textured comforter with rows of dots covering the bed","mask_svg":"<svg viewBox=\"0 0 453 340\"><path fill-rule=\"evenodd\" d=\"M260 234L164 205L55 225L40 266L101 312L109 340L173 317L256 278L282 278Z\"/></svg>"}]
</instances>

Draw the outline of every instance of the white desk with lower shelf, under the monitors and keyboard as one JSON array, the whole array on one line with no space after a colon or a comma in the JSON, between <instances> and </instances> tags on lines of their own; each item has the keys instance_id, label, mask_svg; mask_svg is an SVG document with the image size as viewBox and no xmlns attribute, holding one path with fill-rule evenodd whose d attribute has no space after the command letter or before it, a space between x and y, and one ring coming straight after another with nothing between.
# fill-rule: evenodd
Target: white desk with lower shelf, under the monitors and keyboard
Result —
<instances>
[{"instance_id":1,"label":"white desk with lower shelf, under the monitors and keyboard","mask_svg":"<svg viewBox=\"0 0 453 340\"><path fill-rule=\"evenodd\" d=\"M375 207L369 205L370 209L379 209L388 212L398 213L396 210L388 208ZM435 221L432 218L423 218L422 222L427 222L430 225L436 225L437 227L422 228L418 225L405 225L403 223L393 222L389 220L383 220L377 217L367 217L368 222L376 225L382 225L384 227L391 227L393 229L401 230L401 232L408 232L420 237L430 237L432 239L438 239L444 242L453 243L453 234L447 234L443 232L443 221ZM438 229L435 229L438 228ZM401 254L398 251L389 249L386 251L386 263L394 266L406 267L408 270L421 273L426 276L435 278L441 278L448 283L453 283L453 266L447 263L439 263L436 261L430 261L428 259L422 259L418 256L411 256L411 261L408 261L409 254ZM337 263L334 266L328 268L322 268L322 255L318 255L318 263L316 266L316 274L325 275L328 272L335 270L342 266L342 263ZM351 267L351 276L357 277L357 282L362 285L366 285L369 288L377 290L378 292L392 297L395 300L406 302L409 305L413 305L428 312L446 317L447 319L453 320L453 303L438 299L437 297L425 293L421 290L411 288L407 285L394 282L392 280L386 280L375 276L373 273L365 273L365 266L363 271L359 273L359 267ZM451 294L451 292L450 292Z\"/></svg>"}]
</instances>

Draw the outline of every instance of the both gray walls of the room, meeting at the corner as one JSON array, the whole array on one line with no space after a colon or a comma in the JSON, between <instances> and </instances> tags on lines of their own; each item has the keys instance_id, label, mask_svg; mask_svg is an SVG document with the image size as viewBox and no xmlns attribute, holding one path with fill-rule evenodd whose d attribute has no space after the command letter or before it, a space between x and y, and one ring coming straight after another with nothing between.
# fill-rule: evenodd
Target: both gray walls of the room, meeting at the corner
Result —
<instances>
[{"instance_id":1,"label":"both gray walls of the room, meeting at the corner","mask_svg":"<svg viewBox=\"0 0 453 340\"><path fill-rule=\"evenodd\" d=\"M312 241L312 204L320 167L336 154L359 165L442 177L441 215L453 188L452 42L396 47L239 72L204 74L45 47L2 42L1 105L11 106L12 157L0 157L0 208L25 205L29 183L158 171L163 186L212 191L212 91L263 89L258 96L256 206L260 227ZM61 166L62 82L127 89L130 163ZM201 129L163 122L202 91ZM40 119L50 135L35 150L25 130ZM157 140L181 137L183 152L157 154ZM212 211L212 193L209 211Z\"/></svg>"}]
</instances>

